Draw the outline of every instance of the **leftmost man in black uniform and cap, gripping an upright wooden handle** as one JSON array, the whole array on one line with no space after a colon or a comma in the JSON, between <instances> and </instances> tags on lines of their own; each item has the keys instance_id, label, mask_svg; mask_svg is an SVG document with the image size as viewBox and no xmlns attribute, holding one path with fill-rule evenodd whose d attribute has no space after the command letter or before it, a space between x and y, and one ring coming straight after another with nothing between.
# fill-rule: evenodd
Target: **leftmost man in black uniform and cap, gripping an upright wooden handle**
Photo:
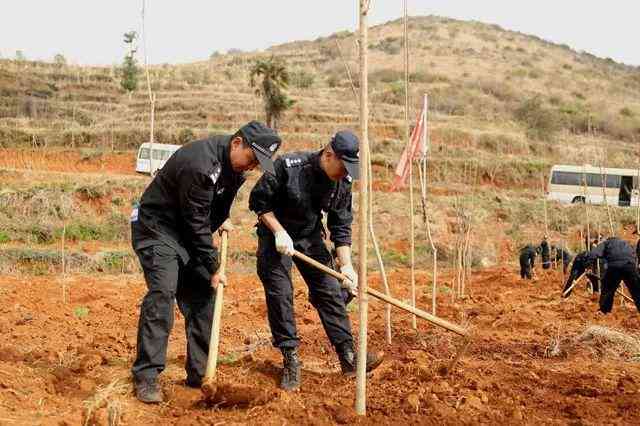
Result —
<instances>
[{"instance_id":1,"label":"leftmost man in black uniform and cap, gripping an upright wooden handle","mask_svg":"<svg viewBox=\"0 0 640 426\"><path fill-rule=\"evenodd\" d=\"M132 244L148 288L131 370L139 400L163 399L156 379L165 367L174 299L185 319L186 384L200 386L209 352L214 288L225 282L216 273L218 251L212 233L227 226L231 204L245 180L243 172L258 164L273 172L271 157L280 143L273 130L256 121L234 135L189 143L169 158L132 212Z\"/></svg>"}]
</instances>

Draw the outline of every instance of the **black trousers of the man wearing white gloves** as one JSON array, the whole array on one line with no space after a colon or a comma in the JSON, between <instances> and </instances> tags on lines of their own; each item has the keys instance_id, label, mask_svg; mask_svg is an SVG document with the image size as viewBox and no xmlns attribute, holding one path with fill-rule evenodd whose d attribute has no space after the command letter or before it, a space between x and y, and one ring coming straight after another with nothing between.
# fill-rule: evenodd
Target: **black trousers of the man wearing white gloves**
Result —
<instances>
[{"instance_id":1,"label":"black trousers of the man wearing white gloves","mask_svg":"<svg viewBox=\"0 0 640 426\"><path fill-rule=\"evenodd\" d=\"M331 254L320 233L294 241L294 247L314 260L332 266ZM292 263L296 264L309 288L309 301L318 311L331 344L338 351L344 345L353 345L351 322L346 310L348 292L341 288L338 280L297 258L278 253L271 234L259 236L257 255L258 276L264 287L275 347L295 348L300 343L293 308Z\"/></svg>"}]
</instances>

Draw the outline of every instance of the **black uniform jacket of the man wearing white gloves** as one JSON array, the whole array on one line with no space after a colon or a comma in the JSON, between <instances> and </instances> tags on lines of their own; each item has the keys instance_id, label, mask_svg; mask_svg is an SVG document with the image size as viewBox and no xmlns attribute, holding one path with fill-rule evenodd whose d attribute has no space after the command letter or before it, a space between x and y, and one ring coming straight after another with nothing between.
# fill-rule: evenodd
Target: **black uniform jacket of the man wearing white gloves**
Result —
<instances>
[{"instance_id":1,"label":"black uniform jacket of the man wearing white gloves","mask_svg":"<svg viewBox=\"0 0 640 426\"><path fill-rule=\"evenodd\" d=\"M276 175L265 173L251 191L249 209L258 216L273 212L294 240L322 230L322 212L336 247L351 245L351 182L333 182L320 168L320 152L294 152L275 162ZM270 231L258 224L258 235Z\"/></svg>"}]
</instances>

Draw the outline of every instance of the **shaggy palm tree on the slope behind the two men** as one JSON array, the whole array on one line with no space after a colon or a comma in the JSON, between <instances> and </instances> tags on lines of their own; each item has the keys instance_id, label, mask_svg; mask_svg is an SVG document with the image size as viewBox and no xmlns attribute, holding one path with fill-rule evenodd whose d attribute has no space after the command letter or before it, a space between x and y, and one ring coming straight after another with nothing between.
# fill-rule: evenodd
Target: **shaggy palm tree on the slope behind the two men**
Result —
<instances>
[{"instance_id":1,"label":"shaggy palm tree on the slope behind the two men","mask_svg":"<svg viewBox=\"0 0 640 426\"><path fill-rule=\"evenodd\" d=\"M258 85L256 78L262 78ZM295 103L284 90L289 86L289 72L285 65L275 57L258 59L251 67L249 85L255 87L256 94L264 98L264 112L267 126L277 129L282 114Z\"/></svg>"}]
</instances>

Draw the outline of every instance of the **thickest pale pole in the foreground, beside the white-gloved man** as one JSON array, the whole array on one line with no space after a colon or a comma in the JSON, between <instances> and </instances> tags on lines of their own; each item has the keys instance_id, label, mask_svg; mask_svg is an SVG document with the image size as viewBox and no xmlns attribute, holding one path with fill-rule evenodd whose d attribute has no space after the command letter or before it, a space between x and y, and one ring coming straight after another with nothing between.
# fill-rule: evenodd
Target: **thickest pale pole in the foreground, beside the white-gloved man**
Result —
<instances>
[{"instance_id":1,"label":"thickest pale pole in the foreground, beside the white-gloved man","mask_svg":"<svg viewBox=\"0 0 640 426\"><path fill-rule=\"evenodd\" d=\"M360 9L360 211L359 215L359 288L358 288L358 358L356 364L356 401L358 415L367 413L367 314L369 299L367 297L367 202L369 179L369 81L368 81L368 28L370 0L359 0Z\"/></svg>"}]
</instances>

